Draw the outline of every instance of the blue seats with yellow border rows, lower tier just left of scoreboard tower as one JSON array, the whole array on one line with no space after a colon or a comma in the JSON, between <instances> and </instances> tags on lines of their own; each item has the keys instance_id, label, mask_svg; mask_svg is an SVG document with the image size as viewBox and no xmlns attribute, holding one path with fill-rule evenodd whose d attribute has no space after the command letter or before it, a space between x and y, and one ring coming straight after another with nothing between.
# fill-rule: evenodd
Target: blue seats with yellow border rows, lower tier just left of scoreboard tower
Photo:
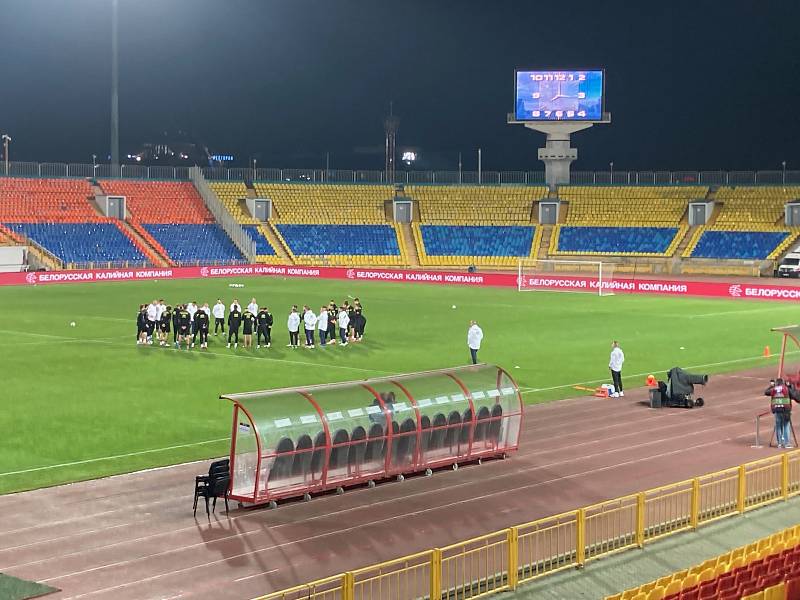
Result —
<instances>
[{"instance_id":1,"label":"blue seats with yellow border rows, lower tier just left of scoreboard tower","mask_svg":"<svg viewBox=\"0 0 800 600\"><path fill-rule=\"evenodd\" d=\"M515 266L531 255L531 225L413 225L422 265Z\"/></svg>"}]
</instances>

